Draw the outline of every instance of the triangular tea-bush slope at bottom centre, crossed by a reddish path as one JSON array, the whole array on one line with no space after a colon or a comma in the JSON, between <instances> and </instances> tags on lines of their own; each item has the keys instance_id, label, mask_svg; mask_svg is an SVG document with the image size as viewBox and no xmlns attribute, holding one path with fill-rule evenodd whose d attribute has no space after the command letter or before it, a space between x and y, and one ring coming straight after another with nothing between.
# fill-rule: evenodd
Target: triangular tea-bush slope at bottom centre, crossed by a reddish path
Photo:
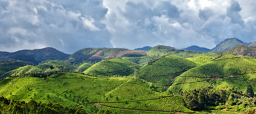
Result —
<instances>
[{"instance_id":1,"label":"triangular tea-bush slope at bottom centre, crossed by a reddish path","mask_svg":"<svg viewBox=\"0 0 256 114\"><path fill-rule=\"evenodd\" d=\"M194 113L185 107L182 97L152 91L145 83L132 80L106 94L101 105L130 110Z\"/></svg>"}]
</instances>

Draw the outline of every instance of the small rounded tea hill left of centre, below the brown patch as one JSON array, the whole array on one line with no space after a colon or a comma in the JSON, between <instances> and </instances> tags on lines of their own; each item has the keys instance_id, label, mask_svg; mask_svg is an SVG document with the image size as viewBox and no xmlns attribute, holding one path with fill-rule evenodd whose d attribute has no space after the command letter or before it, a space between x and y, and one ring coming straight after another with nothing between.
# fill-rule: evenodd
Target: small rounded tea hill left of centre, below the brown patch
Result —
<instances>
[{"instance_id":1,"label":"small rounded tea hill left of centre, below the brown patch","mask_svg":"<svg viewBox=\"0 0 256 114\"><path fill-rule=\"evenodd\" d=\"M122 58L113 58L94 64L93 66L86 69L84 73L89 75L103 76L129 76L134 72L134 68L137 67L141 66Z\"/></svg>"}]
</instances>

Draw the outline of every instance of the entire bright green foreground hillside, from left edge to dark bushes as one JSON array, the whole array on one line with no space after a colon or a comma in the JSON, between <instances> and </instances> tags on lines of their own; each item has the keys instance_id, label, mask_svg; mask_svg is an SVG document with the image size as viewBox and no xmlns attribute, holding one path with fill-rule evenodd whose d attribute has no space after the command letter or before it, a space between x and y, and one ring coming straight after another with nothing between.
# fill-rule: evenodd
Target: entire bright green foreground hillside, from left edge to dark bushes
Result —
<instances>
[{"instance_id":1,"label":"entire bright green foreground hillside, from left edge to dark bushes","mask_svg":"<svg viewBox=\"0 0 256 114\"><path fill-rule=\"evenodd\" d=\"M96 113L91 112L95 104L100 106L96 109L110 109L116 113L194 113L185 107L182 97L155 92L140 80L124 77L64 73L55 78L9 78L0 81L0 95L26 102L35 100L69 107L83 105L89 113Z\"/></svg>"}]
</instances>

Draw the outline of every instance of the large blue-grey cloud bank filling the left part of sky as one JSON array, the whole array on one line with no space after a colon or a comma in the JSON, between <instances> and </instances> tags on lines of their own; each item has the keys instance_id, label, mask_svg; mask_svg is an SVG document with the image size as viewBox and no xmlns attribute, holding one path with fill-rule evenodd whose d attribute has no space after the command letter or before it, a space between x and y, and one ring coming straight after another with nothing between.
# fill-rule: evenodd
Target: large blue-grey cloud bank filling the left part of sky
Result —
<instances>
[{"instance_id":1,"label":"large blue-grey cloud bank filling the left part of sky","mask_svg":"<svg viewBox=\"0 0 256 114\"><path fill-rule=\"evenodd\" d=\"M73 3L80 6L48 0L2 0L1 51L55 47L74 53L85 47L112 47L110 33L101 22L107 13L102 1Z\"/></svg>"}]
</instances>

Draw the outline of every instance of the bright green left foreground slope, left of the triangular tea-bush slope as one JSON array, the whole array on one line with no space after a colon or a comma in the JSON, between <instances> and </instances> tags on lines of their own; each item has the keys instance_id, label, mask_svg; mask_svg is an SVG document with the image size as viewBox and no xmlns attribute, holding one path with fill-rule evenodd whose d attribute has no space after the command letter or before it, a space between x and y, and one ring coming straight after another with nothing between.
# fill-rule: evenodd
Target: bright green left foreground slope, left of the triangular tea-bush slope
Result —
<instances>
[{"instance_id":1,"label":"bright green left foreground slope, left of the triangular tea-bush slope","mask_svg":"<svg viewBox=\"0 0 256 114\"><path fill-rule=\"evenodd\" d=\"M66 73L57 78L23 77L0 81L0 95L8 99L43 103L60 103L65 106L98 102L111 90L127 82L128 78L99 78Z\"/></svg>"}]
</instances>

